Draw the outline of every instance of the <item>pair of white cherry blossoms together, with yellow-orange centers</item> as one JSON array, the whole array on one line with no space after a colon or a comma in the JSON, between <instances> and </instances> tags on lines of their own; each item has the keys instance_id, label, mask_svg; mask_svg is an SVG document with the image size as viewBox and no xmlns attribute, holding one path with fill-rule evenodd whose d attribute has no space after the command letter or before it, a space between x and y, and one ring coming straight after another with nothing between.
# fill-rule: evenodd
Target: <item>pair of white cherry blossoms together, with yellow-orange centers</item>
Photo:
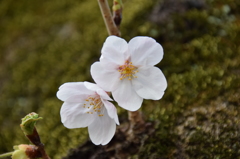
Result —
<instances>
[{"instance_id":1,"label":"pair of white cherry blossoms together, with yellow-orange centers","mask_svg":"<svg viewBox=\"0 0 240 159\"><path fill-rule=\"evenodd\" d=\"M143 99L162 98L167 81L155 67L163 58L163 48L153 38L135 37L127 43L117 36L109 36L98 62L91 66L96 84L69 82L60 86L57 97L64 103L61 121L67 128L88 127L96 145L106 145L119 125L116 107L138 110ZM110 98L109 94L112 94Z\"/></svg>"}]
</instances>

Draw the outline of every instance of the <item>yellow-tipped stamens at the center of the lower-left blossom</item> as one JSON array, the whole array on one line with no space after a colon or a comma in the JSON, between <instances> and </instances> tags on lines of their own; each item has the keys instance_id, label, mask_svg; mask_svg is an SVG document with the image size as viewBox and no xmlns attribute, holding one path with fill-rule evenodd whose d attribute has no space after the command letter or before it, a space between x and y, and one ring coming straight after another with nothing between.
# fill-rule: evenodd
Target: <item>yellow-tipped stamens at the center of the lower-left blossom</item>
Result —
<instances>
[{"instance_id":1,"label":"yellow-tipped stamens at the center of the lower-left blossom","mask_svg":"<svg viewBox=\"0 0 240 159\"><path fill-rule=\"evenodd\" d=\"M99 96L90 96L85 101L86 103L83 105L83 108L88 109L88 111L86 112L87 114L97 113L98 116L103 116L104 105Z\"/></svg>"}]
</instances>

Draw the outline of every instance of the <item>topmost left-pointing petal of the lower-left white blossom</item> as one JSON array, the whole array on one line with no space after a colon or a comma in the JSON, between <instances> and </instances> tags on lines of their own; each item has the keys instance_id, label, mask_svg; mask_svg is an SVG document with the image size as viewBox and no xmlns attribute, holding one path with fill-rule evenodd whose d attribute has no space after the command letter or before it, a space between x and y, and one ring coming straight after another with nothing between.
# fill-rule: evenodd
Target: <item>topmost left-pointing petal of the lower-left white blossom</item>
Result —
<instances>
[{"instance_id":1,"label":"topmost left-pointing petal of the lower-left white blossom","mask_svg":"<svg viewBox=\"0 0 240 159\"><path fill-rule=\"evenodd\" d=\"M83 82L69 82L64 83L59 87L57 97L62 101L81 102L86 99L87 95L93 93L93 91L88 90L84 86Z\"/></svg>"}]
</instances>

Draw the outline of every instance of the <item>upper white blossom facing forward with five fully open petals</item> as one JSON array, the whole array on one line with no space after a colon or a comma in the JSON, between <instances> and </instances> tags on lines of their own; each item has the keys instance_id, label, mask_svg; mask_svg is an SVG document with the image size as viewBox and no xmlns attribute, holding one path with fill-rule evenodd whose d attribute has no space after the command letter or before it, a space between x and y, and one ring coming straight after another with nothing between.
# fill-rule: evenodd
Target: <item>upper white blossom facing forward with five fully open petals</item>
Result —
<instances>
[{"instance_id":1,"label":"upper white blossom facing forward with five fully open petals","mask_svg":"<svg viewBox=\"0 0 240 159\"><path fill-rule=\"evenodd\" d=\"M144 99L162 98L167 81L154 67L162 60L162 46L150 37L124 39L109 36L102 48L100 62L91 66L91 75L124 109L135 111Z\"/></svg>"}]
</instances>

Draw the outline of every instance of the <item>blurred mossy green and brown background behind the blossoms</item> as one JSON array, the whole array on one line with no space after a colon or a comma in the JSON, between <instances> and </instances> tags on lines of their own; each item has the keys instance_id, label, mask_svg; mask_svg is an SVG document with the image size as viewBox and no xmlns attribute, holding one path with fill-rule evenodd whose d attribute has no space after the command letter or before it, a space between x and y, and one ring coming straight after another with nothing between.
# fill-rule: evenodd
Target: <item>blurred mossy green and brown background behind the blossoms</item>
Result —
<instances>
[{"instance_id":1,"label":"blurred mossy green and brown background behind the blossoms","mask_svg":"<svg viewBox=\"0 0 240 159\"><path fill-rule=\"evenodd\" d=\"M132 157L238 158L240 1L123 3L122 37L161 43L157 66L168 81L160 101L144 101L146 119L157 124ZM53 159L88 140L86 129L61 124L56 92L65 82L93 82L90 66L107 36L96 0L0 1L0 154L28 143L19 124L30 112L43 117L37 128Z\"/></svg>"}]
</instances>

